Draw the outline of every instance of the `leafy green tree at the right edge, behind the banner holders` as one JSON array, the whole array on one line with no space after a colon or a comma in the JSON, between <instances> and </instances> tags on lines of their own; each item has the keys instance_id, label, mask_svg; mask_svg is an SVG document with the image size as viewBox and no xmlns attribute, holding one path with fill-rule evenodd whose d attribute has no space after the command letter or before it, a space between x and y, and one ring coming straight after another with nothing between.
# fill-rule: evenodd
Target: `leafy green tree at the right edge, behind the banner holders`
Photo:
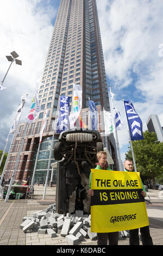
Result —
<instances>
[{"instance_id":1,"label":"leafy green tree at the right edge, behind the banner holders","mask_svg":"<svg viewBox=\"0 0 163 256\"><path fill-rule=\"evenodd\" d=\"M153 179L163 173L163 143L159 142L155 132L143 132L144 139L133 141L133 150L137 172L141 177ZM131 149L126 153L126 159L133 159Z\"/></svg>"}]
</instances>

